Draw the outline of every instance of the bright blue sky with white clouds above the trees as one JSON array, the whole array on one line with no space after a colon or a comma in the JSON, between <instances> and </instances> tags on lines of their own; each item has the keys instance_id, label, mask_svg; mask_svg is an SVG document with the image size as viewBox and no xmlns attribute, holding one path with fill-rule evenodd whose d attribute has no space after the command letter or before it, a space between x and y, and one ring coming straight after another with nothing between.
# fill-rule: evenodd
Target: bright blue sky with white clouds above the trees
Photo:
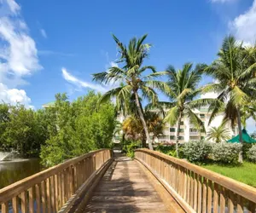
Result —
<instances>
[{"instance_id":1,"label":"bright blue sky with white clouds above the trees","mask_svg":"<svg viewBox=\"0 0 256 213\"><path fill-rule=\"evenodd\" d=\"M0 0L0 99L40 108L106 88L91 74L113 65L111 33L125 43L148 33L148 65L211 63L225 35L256 39L256 0ZM211 81L204 78L203 83Z\"/></svg>"}]
</instances>

